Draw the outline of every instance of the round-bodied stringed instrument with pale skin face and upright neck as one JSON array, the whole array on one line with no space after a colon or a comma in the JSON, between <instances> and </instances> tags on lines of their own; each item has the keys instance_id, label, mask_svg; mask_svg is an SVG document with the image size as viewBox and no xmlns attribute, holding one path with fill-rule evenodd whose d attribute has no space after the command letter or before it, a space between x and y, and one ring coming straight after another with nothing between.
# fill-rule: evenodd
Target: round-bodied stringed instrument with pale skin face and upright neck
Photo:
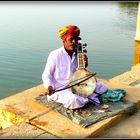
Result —
<instances>
[{"instance_id":1,"label":"round-bodied stringed instrument with pale skin face and upright neck","mask_svg":"<svg viewBox=\"0 0 140 140\"><path fill-rule=\"evenodd\" d=\"M95 73L93 74L86 70L83 63L83 53L85 46L86 44L81 43L78 43L77 45L77 69L71 75L69 85L71 86L73 93L82 97L89 97L91 94L93 94L96 88L96 79L94 77Z\"/></svg>"}]
</instances>

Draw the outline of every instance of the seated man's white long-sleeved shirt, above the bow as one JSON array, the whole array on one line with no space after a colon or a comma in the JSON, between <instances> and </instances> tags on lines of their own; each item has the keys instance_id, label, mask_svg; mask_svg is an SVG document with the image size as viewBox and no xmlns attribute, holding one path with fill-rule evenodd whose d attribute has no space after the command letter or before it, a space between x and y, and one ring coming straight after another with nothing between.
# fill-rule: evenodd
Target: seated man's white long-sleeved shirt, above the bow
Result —
<instances>
[{"instance_id":1,"label":"seated man's white long-sleeved shirt, above the bow","mask_svg":"<svg viewBox=\"0 0 140 140\"><path fill-rule=\"evenodd\" d=\"M42 74L43 85L59 89L69 83L71 74L76 70L75 56L71 59L64 46L52 51Z\"/></svg>"}]
</instances>

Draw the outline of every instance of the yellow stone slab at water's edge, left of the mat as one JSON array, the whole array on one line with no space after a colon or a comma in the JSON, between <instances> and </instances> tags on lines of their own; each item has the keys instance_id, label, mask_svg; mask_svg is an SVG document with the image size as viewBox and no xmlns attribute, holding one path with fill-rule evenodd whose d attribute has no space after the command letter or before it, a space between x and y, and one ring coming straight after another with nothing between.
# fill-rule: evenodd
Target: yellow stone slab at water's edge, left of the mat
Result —
<instances>
[{"instance_id":1,"label":"yellow stone slab at water's edge, left of the mat","mask_svg":"<svg viewBox=\"0 0 140 140\"><path fill-rule=\"evenodd\" d=\"M0 100L0 108L25 119L30 119L43 111L49 110L49 107L34 100L34 98L44 92L45 89L43 85L38 85Z\"/></svg>"}]
</instances>

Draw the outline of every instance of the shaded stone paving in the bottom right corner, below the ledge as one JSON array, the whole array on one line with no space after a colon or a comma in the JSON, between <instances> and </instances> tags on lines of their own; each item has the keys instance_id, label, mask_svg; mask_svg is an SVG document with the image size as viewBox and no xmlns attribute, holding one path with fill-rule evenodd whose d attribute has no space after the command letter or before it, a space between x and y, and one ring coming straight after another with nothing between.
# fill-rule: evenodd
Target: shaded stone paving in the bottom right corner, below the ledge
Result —
<instances>
[{"instance_id":1,"label":"shaded stone paving in the bottom right corner, below the ledge","mask_svg":"<svg viewBox=\"0 0 140 140\"><path fill-rule=\"evenodd\" d=\"M115 126L105 130L98 138L140 138L140 110Z\"/></svg>"}]
</instances>

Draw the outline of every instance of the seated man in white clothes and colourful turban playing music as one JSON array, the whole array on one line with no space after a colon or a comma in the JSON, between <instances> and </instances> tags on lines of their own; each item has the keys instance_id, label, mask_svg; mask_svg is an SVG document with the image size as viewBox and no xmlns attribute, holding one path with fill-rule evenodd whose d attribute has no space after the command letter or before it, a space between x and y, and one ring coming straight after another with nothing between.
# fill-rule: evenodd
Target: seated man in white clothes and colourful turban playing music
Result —
<instances>
[{"instance_id":1,"label":"seated man in white clothes and colourful turban playing music","mask_svg":"<svg viewBox=\"0 0 140 140\"><path fill-rule=\"evenodd\" d=\"M59 36L62 39L63 46L50 52L42 74L43 85L46 88L46 94L48 94L48 102L56 101L62 103L64 107L69 109L81 108L89 102L88 98L72 93L70 88L53 93L54 90L68 85L71 74L76 71L77 58L75 49L78 40L81 39L79 35L80 29L75 25L69 25L59 30ZM86 67L88 66L86 55L84 55L83 63ZM96 92L103 93L106 90L106 85L97 82ZM97 96L97 94L93 93L90 98L98 104L100 102Z\"/></svg>"}]
</instances>

